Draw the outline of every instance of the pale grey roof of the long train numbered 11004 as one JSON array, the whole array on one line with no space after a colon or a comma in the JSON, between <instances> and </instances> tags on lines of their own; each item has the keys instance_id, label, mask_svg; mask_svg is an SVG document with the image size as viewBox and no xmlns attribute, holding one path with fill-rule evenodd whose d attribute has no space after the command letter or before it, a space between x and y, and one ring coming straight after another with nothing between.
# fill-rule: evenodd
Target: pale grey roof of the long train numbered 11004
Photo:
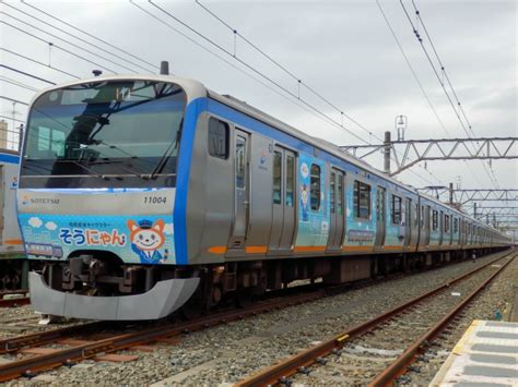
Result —
<instances>
[{"instance_id":1,"label":"pale grey roof of the long train numbered 11004","mask_svg":"<svg viewBox=\"0 0 518 387\"><path fill-rule=\"evenodd\" d=\"M224 105L227 105L232 108L240 110L242 112L244 112L245 114L247 114L249 117L252 117L252 118L255 118L259 121L262 121L263 123L270 124L270 125L285 132L286 134L290 134L290 135L293 135L297 138L301 138L303 141L305 141L306 143L319 148L320 150L327 152L327 153L331 154L334 157L341 158L341 159L343 159L343 160L345 160L345 161L348 161L348 162L350 162L350 164L352 164L352 165L354 165L358 168L362 168L365 171L368 171L369 173L378 177L379 179L382 179L382 180L386 180L386 181L391 182L393 184L397 184L398 186L404 189L409 193L422 196L422 197L426 198L427 201L433 202L435 204L438 204L443 207L447 207L448 210L451 210L451 211L454 211L454 213L456 213L456 214L458 214L462 217L471 218L469 215L463 214L463 213L459 211L458 209L448 206L447 204L438 201L437 198L435 198L433 196L429 196L429 195L426 195L424 193L421 193L415 188L413 188L411 185L408 185L408 184L401 182L398 179L386 176L384 172L381 172L380 170L374 168L369 164L367 164L363 160L360 160L356 157L343 152L335 144L332 144L332 143L323 140L323 138L319 138L319 137L315 137L315 136L311 136L309 134L306 134L306 133L299 131L298 129L296 129L294 126L291 126L287 123L285 123L285 122L279 120L279 119L266 113L264 111L248 105L246 101L243 101L243 100L237 99L237 98L235 98L233 96L229 96L229 95L222 95L222 94L219 94L216 92L213 92L213 90L207 88L199 81L185 78L185 77L179 77L179 76L175 76L175 75L163 75L163 74L117 74L117 75L111 74L111 75L101 75L101 76L94 76L94 77L91 77L91 78L75 80L75 81L62 83L62 84L59 84L59 85L54 85L54 86L50 86L50 87L46 87L45 89L40 90L39 93L37 93L33 96L30 106L42 94L44 94L48 90L52 90L52 89L56 89L56 88L62 88L62 87L67 87L67 86L72 86L72 85L76 85L76 84L81 84L81 83L109 81L109 80L136 80L136 81L140 80L140 81L157 81L157 82L177 83L178 85L180 85L186 90L186 94L188 96L188 101L191 101L191 100L193 100L196 98L200 98L200 97L213 98L213 99L215 99L215 100L217 100L217 101L220 101ZM481 222L476 219L473 219L473 218L471 218L471 219L474 222L480 223L481 226L488 227L488 225L485 225L485 223L483 223L483 222ZM492 227L488 227L488 228L492 228Z\"/></svg>"}]
</instances>

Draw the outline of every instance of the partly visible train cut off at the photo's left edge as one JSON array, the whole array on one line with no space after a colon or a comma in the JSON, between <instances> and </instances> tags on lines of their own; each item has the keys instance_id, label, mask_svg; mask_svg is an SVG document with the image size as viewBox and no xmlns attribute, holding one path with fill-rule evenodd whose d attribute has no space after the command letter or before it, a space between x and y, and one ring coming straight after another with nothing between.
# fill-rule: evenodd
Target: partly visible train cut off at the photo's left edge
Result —
<instances>
[{"instance_id":1,"label":"partly visible train cut off at the photo's left edge","mask_svg":"<svg viewBox=\"0 0 518 387\"><path fill-rule=\"evenodd\" d=\"M5 138L0 132L0 138ZM27 287L25 254L17 226L15 198L20 156L0 149L0 291Z\"/></svg>"}]
</instances>

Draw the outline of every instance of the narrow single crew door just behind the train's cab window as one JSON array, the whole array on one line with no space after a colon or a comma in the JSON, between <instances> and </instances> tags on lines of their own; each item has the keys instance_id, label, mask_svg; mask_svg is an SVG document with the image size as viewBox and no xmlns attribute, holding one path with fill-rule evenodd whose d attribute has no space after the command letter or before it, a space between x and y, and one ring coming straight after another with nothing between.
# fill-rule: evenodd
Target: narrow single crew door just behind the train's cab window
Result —
<instances>
[{"instance_id":1,"label":"narrow single crew door just behind the train's cab window","mask_svg":"<svg viewBox=\"0 0 518 387\"><path fill-rule=\"evenodd\" d=\"M243 249L250 219L249 134L239 130L234 137L234 227L229 247Z\"/></svg>"}]
</instances>

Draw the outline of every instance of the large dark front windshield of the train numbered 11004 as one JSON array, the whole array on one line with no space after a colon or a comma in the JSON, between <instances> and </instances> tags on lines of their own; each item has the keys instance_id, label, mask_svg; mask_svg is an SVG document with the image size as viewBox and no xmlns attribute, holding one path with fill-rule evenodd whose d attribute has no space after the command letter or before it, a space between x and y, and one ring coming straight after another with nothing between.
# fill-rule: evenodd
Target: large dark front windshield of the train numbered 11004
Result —
<instances>
[{"instance_id":1,"label":"large dark front windshield of the train numbered 11004","mask_svg":"<svg viewBox=\"0 0 518 387\"><path fill-rule=\"evenodd\" d=\"M187 97L155 81L50 90L32 106L21 188L174 186Z\"/></svg>"}]
</instances>

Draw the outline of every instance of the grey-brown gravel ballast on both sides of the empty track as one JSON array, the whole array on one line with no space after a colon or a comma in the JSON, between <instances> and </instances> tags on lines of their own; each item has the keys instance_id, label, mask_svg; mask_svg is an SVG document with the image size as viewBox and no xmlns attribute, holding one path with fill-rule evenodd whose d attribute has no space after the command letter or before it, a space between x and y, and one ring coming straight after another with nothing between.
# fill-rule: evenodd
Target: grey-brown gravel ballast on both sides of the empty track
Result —
<instances>
[{"instance_id":1,"label":"grey-brown gravel ballast on both sides of the empty track","mask_svg":"<svg viewBox=\"0 0 518 387\"><path fill-rule=\"evenodd\" d=\"M84 361L72 367L47 372L32 380L21 378L11 384L150 385L161 380L167 385L235 383L247 374L367 321L494 257L495 255L492 255L480 258L474 264L463 262L374 283L311 303L185 335L178 344L157 344L154 352L118 352L138 354L139 359L133 362ZM513 282L509 278L516 280L517 270L518 263L515 259L476 300L474 305L479 305L479 309L473 310L471 317L469 313L464 315L466 326L460 328L464 323L459 324L460 335L471 319L492 317L495 305L501 306L502 303L514 299ZM514 277L509 277L510 273L514 273ZM484 302L486 297L490 299ZM451 340L455 344L455 339ZM440 353L437 351L438 355ZM433 362L428 361L426 365L431 363ZM420 380L419 383L425 379L422 378L423 372L416 374L415 380ZM299 382L309 383L309 379L305 378L306 376L301 376ZM340 384L339 380L334 383Z\"/></svg>"}]
</instances>

